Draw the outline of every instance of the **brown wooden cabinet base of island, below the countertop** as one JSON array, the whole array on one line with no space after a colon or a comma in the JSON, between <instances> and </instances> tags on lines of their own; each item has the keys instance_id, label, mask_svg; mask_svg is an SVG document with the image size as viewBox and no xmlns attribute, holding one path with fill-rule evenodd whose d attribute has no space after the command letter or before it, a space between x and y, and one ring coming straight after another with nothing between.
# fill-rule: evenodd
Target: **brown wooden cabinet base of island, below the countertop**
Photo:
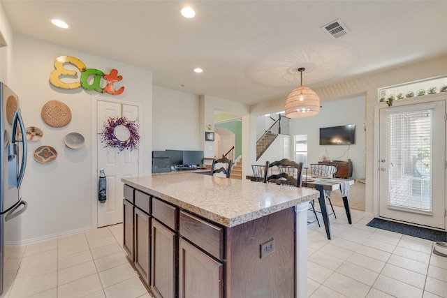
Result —
<instances>
[{"instance_id":1,"label":"brown wooden cabinet base of island, below the countertop","mask_svg":"<svg viewBox=\"0 0 447 298\"><path fill-rule=\"evenodd\" d=\"M293 207L228 228L138 190L134 202L124 248L154 297L295 297Z\"/></svg>"}]
</instances>

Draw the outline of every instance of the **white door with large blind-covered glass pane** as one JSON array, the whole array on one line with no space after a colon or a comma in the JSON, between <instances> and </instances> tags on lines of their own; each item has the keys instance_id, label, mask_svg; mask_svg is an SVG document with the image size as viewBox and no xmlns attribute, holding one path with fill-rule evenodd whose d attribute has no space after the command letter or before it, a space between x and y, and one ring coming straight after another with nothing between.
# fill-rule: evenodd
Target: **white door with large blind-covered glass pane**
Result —
<instances>
[{"instance_id":1,"label":"white door with large blind-covered glass pane","mask_svg":"<svg viewBox=\"0 0 447 298\"><path fill-rule=\"evenodd\" d=\"M445 229L446 103L383 108L379 216Z\"/></svg>"}]
</instances>

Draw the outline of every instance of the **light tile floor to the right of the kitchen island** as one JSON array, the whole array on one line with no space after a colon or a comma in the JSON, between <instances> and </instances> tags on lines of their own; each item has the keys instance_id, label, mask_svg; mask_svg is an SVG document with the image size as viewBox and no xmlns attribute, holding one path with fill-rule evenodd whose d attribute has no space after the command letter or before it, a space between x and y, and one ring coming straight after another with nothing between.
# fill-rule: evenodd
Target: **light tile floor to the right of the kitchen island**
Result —
<instances>
[{"instance_id":1,"label":"light tile floor to the right of the kitchen island","mask_svg":"<svg viewBox=\"0 0 447 298\"><path fill-rule=\"evenodd\" d=\"M363 211L351 210L349 225L344 209L335 211L332 240L308 225L309 297L447 297L447 258L432 252L433 241L368 227L374 216Z\"/></svg>"}]
</instances>

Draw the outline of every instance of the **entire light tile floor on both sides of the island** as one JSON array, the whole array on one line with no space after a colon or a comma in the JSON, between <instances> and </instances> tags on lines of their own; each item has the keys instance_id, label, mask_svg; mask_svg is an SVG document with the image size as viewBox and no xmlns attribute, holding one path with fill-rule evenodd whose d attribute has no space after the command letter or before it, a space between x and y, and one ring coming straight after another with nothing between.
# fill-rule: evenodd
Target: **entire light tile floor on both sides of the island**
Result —
<instances>
[{"instance_id":1,"label":"entire light tile floor on both sides of the island","mask_svg":"<svg viewBox=\"0 0 447 298\"><path fill-rule=\"evenodd\" d=\"M367 227L373 216L362 211L352 210L349 225L344 209L335 209L332 240L317 223L308 225L309 297L447 297L447 258L432 253L432 241ZM15 255L20 269L2 298L151 297L122 250L122 225L17 248Z\"/></svg>"}]
</instances>

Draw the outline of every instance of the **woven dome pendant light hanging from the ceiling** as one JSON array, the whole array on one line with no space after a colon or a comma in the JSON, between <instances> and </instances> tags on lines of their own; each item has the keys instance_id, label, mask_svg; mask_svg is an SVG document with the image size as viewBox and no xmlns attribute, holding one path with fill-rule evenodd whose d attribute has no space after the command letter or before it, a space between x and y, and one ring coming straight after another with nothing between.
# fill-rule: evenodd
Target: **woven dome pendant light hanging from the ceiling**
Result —
<instances>
[{"instance_id":1,"label":"woven dome pendant light hanging from the ceiling","mask_svg":"<svg viewBox=\"0 0 447 298\"><path fill-rule=\"evenodd\" d=\"M302 72L304 67L298 68L301 74L300 87L293 89L286 99L286 117L304 118L314 116L320 112L320 98L311 89L302 86Z\"/></svg>"}]
</instances>

